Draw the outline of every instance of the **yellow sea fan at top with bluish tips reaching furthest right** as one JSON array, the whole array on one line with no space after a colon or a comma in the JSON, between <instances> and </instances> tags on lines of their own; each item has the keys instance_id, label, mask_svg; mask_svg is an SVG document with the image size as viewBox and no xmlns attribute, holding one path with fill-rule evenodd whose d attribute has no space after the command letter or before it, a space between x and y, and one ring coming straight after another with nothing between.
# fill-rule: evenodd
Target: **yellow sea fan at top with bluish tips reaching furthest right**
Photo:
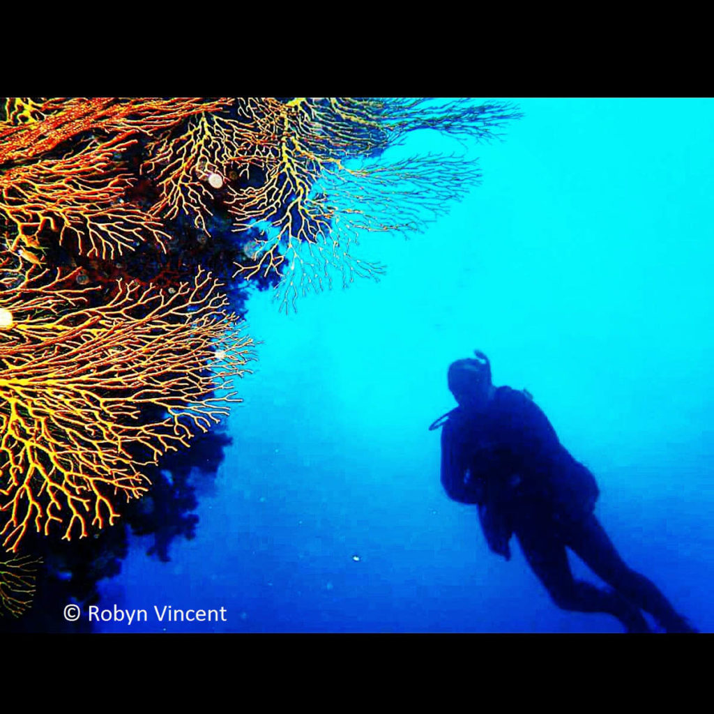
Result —
<instances>
[{"instance_id":1,"label":"yellow sea fan at top with bluish tips reaching furthest right","mask_svg":"<svg viewBox=\"0 0 714 714\"><path fill-rule=\"evenodd\" d=\"M266 180L236 196L236 228L270 228L256 241L253 262L238 266L238 273L250 278L286 263L278 286L283 307L329 283L331 268L343 284L377 272L352 256L360 231L419 231L480 178L476 166L453 156L352 160L373 156L415 129L488 140L516 116L498 104L334 97L248 100L241 109L256 131L251 161L261 164Z\"/></svg>"}]
</instances>

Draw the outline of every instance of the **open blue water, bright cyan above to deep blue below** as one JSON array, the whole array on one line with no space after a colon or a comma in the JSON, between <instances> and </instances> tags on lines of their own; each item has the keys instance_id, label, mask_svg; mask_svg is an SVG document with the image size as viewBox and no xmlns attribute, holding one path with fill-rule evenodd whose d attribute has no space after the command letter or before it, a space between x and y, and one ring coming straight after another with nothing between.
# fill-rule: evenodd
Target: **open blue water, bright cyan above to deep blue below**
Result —
<instances>
[{"instance_id":1,"label":"open blue water, bright cyan above to deep blue below","mask_svg":"<svg viewBox=\"0 0 714 714\"><path fill-rule=\"evenodd\" d=\"M448 216L363 237L379 283L288 316L251 298L263 344L196 538L169 563L137 540L101 608L147 621L98 630L620 632L558 610L515 540L511 562L493 555L441 491L427 427L455 406L448 364L480 348L595 473L625 561L714 631L714 101L516 103L526 116L473 147L483 185ZM423 131L385 159L430 150L463 152ZM161 623L154 605L226 621Z\"/></svg>"}]
</instances>

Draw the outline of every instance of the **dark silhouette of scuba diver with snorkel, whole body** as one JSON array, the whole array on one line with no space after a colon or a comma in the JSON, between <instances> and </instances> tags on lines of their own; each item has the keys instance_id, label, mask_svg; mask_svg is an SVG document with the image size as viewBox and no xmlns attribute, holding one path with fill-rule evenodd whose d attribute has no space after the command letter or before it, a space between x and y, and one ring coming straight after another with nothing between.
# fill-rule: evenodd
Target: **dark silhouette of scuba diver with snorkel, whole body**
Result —
<instances>
[{"instance_id":1,"label":"dark silhouette of scuba diver with snorkel, whole body","mask_svg":"<svg viewBox=\"0 0 714 714\"><path fill-rule=\"evenodd\" d=\"M506 560L516 534L533 572L563 610L610 613L630 633L696 632L653 583L628 568L593 514L595 478L561 446L527 391L493 386L481 351L448 368L458 407L429 428L441 433L441 483L453 501L478 505L488 547ZM570 548L610 588L575 580Z\"/></svg>"}]
</instances>

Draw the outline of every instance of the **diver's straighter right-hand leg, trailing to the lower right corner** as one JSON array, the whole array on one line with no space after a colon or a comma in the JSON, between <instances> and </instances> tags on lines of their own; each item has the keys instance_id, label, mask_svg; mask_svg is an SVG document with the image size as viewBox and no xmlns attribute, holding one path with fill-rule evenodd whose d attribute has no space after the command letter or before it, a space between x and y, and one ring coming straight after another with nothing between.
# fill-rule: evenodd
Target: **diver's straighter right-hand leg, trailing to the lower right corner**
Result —
<instances>
[{"instance_id":1,"label":"diver's straighter right-hand leg, trailing to the lower right corner","mask_svg":"<svg viewBox=\"0 0 714 714\"><path fill-rule=\"evenodd\" d=\"M593 514L563 530L565 543L595 575L638 608L651 613L667 632L696 632L658 588L644 575L625 565L605 529Z\"/></svg>"}]
</instances>

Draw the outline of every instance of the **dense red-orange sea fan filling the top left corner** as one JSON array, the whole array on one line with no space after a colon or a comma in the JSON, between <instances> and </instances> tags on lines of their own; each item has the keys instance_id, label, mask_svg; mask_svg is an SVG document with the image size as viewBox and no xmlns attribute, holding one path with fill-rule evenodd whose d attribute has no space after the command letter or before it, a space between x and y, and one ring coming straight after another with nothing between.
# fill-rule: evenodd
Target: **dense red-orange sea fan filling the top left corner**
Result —
<instances>
[{"instance_id":1,"label":"dense red-orange sea fan filling the top left corner","mask_svg":"<svg viewBox=\"0 0 714 714\"><path fill-rule=\"evenodd\" d=\"M0 218L13 228L9 248L35 248L47 227L79 253L114 258L133 241L169 239L150 213L124 200L131 176L116 161L136 134L166 129L225 100L8 100L0 122ZM64 141L78 146L61 156ZM31 260L31 251L26 257Z\"/></svg>"}]
</instances>

